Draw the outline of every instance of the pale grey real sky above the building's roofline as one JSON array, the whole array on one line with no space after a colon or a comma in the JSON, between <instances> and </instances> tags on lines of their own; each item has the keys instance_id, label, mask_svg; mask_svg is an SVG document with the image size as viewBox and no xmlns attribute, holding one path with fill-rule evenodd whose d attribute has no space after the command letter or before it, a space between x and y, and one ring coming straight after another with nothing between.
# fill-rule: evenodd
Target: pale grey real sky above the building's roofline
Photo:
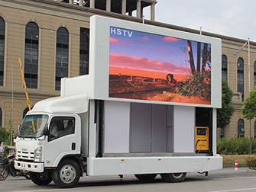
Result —
<instances>
[{"instance_id":1,"label":"pale grey real sky above the building's roofline","mask_svg":"<svg viewBox=\"0 0 256 192\"><path fill-rule=\"evenodd\" d=\"M255 0L157 0L155 21L256 42L255 8Z\"/></svg>"}]
</instances>

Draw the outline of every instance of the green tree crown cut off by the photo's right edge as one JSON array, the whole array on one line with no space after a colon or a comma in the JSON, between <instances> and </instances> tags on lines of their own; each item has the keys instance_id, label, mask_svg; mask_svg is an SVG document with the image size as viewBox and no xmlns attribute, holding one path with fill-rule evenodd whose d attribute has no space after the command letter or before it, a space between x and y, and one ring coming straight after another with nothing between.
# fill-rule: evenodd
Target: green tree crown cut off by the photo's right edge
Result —
<instances>
[{"instance_id":1,"label":"green tree crown cut off by the photo's right edge","mask_svg":"<svg viewBox=\"0 0 256 192\"><path fill-rule=\"evenodd\" d=\"M249 97L243 102L241 114L248 120L256 117L256 88L251 89Z\"/></svg>"}]
</instances>

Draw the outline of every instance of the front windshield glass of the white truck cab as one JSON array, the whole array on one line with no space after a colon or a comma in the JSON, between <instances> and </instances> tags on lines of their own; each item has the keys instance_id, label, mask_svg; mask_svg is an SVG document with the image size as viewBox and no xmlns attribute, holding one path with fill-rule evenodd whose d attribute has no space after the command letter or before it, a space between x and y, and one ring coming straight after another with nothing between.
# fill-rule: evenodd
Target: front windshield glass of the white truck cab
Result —
<instances>
[{"instance_id":1,"label":"front windshield glass of the white truck cab","mask_svg":"<svg viewBox=\"0 0 256 192\"><path fill-rule=\"evenodd\" d=\"M18 136L24 138L39 138L43 136L47 115L28 115L24 118Z\"/></svg>"}]
</instances>

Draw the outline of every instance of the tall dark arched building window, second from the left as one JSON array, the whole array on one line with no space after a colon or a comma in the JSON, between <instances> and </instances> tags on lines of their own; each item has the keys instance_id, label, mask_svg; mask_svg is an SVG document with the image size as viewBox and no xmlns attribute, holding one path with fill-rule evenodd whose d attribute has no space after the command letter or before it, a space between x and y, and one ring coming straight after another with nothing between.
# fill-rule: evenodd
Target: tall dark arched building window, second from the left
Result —
<instances>
[{"instance_id":1,"label":"tall dark arched building window, second from the left","mask_svg":"<svg viewBox=\"0 0 256 192\"><path fill-rule=\"evenodd\" d=\"M37 88L38 73L38 38L39 29L36 23L26 25L24 77L27 88Z\"/></svg>"}]
</instances>

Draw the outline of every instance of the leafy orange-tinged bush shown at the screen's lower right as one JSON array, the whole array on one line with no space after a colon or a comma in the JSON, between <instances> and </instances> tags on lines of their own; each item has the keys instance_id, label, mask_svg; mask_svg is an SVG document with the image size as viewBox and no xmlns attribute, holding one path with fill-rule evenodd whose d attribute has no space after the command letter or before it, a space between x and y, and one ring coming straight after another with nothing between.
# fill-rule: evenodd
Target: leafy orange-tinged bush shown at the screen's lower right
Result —
<instances>
[{"instance_id":1,"label":"leafy orange-tinged bush shown at the screen's lower right","mask_svg":"<svg viewBox=\"0 0 256 192\"><path fill-rule=\"evenodd\" d=\"M209 98L211 96L211 71L186 76L182 82L177 84L176 92L189 98L191 96Z\"/></svg>"}]
</instances>

